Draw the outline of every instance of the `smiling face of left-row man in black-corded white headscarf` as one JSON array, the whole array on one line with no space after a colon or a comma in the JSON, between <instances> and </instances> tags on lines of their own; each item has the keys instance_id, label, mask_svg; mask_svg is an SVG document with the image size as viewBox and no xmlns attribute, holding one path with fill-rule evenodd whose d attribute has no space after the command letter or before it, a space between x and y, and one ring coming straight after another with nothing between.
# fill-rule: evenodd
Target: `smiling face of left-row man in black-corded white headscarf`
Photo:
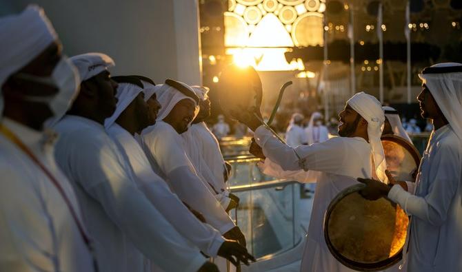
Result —
<instances>
[{"instance_id":1,"label":"smiling face of left-row man in black-corded white headscarf","mask_svg":"<svg viewBox=\"0 0 462 272\"><path fill-rule=\"evenodd\" d=\"M195 103L190 99L183 99L177 103L163 119L165 123L170 124L179 134L188 130L188 125L194 118Z\"/></svg>"}]
</instances>

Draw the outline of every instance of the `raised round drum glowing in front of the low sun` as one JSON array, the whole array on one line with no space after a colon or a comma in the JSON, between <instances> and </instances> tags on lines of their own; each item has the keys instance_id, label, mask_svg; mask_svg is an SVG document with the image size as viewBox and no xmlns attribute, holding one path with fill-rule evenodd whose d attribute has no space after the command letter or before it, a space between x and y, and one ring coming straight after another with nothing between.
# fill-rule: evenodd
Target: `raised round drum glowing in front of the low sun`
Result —
<instances>
[{"instance_id":1,"label":"raised round drum glowing in front of the low sun","mask_svg":"<svg viewBox=\"0 0 462 272\"><path fill-rule=\"evenodd\" d=\"M252 66L228 65L220 74L217 88L223 114L232 118L232 112L259 108L263 97L259 74Z\"/></svg>"}]
</instances>

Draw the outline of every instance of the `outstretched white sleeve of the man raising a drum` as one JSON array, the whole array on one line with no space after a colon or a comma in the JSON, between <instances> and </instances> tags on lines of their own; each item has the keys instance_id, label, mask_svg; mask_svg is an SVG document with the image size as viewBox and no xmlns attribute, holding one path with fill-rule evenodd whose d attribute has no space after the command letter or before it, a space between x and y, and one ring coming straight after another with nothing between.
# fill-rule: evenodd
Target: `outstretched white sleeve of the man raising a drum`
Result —
<instances>
[{"instance_id":1,"label":"outstretched white sleeve of the man raising a drum","mask_svg":"<svg viewBox=\"0 0 462 272\"><path fill-rule=\"evenodd\" d=\"M293 171L301 171L302 169L305 171L336 172L339 165L344 165L346 158L345 143L341 137L332 138L323 143L292 148L281 143L268 129L261 126L255 130L254 138L257 144L262 147L266 158L279 165L280 171L277 171L279 177L299 174ZM303 158L303 165L299 162L294 151L300 158ZM284 174L281 171L292 171L292 173Z\"/></svg>"}]
</instances>

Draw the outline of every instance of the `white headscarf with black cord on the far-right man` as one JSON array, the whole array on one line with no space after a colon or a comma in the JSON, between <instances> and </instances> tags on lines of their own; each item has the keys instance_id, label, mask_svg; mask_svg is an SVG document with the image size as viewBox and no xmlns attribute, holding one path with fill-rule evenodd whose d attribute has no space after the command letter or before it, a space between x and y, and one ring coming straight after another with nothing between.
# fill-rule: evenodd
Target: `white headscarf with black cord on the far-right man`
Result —
<instances>
[{"instance_id":1,"label":"white headscarf with black cord on the far-right man","mask_svg":"<svg viewBox=\"0 0 462 272\"><path fill-rule=\"evenodd\" d=\"M438 63L419 77L462 143L462 63Z\"/></svg>"}]
</instances>

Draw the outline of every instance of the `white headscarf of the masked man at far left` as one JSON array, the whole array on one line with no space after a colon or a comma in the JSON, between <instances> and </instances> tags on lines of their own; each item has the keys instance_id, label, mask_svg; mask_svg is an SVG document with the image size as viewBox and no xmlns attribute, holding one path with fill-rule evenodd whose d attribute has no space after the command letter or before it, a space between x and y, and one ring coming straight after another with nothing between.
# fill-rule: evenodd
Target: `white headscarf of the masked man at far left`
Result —
<instances>
[{"instance_id":1,"label":"white headscarf of the masked man at far left","mask_svg":"<svg viewBox=\"0 0 462 272\"><path fill-rule=\"evenodd\" d=\"M58 36L39 6L30 5L20 14L0 18L0 88L17 72L41 54ZM0 114L3 96L0 92Z\"/></svg>"}]
</instances>

